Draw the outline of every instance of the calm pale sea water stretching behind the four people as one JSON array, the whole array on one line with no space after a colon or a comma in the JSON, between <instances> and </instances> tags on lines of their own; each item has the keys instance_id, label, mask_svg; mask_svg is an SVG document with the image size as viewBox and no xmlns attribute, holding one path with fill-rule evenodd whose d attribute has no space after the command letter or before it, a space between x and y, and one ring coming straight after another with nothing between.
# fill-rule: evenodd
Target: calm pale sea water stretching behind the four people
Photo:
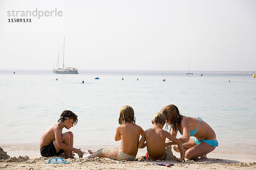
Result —
<instances>
[{"instance_id":1,"label":"calm pale sea water stretching behind the four people","mask_svg":"<svg viewBox=\"0 0 256 170\"><path fill-rule=\"evenodd\" d=\"M200 116L215 130L219 146L213 153L256 155L253 74L0 71L0 145L5 150L38 150L44 130L57 123L62 111L71 110L79 119L70 129L75 135L75 147L87 150L119 146L113 137L122 106L131 105L136 124L146 130L151 127L154 113L175 104L183 115Z\"/></svg>"}]
</instances>

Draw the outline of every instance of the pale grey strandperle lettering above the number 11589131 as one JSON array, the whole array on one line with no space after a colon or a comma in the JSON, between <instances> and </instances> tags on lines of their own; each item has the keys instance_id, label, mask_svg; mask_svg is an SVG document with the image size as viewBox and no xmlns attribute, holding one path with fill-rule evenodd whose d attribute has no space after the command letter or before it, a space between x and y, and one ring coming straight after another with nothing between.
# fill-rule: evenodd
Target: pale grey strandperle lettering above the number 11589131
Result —
<instances>
[{"instance_id":1,"label":"pale grey strandperle lettering above the number 11589131","mask_svg":"<svg viewBox=\"0 0 256 170\"><path fill-rule=\"evenodd\" d=\"M7 17L62 17L63 11L58 11L57 8L53 11L39 11L35 8L35 11L7 11Z\"/></svg>"}]
</instances>

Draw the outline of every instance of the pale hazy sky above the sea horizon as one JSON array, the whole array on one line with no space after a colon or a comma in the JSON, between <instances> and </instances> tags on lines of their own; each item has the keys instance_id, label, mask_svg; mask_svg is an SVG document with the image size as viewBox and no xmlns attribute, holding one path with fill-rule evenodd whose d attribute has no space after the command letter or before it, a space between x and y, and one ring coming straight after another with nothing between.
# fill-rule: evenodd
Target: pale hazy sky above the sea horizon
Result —
<instances>
[{"instance_id":1,"label":"pale hazy sky above the sea horizon","mask_svg":"<svg viewBox=\"0 0 256 170\"><path fill-rule=\"evenodd\" d=\"M63 15L7 13L36 8ZM83 70L187 71L190 61L191 71L256 71L255 9L256 0L0 0L0 70L52 70L65 37L65 66Z\"/></svg>"}]
</instances>

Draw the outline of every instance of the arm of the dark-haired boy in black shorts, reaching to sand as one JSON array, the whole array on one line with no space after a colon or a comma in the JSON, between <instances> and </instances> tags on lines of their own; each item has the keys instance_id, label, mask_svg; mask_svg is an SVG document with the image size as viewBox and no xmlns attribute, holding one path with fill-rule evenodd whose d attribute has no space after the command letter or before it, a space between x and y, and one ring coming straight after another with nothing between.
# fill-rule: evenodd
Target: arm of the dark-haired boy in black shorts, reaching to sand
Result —
<instances>
[{"instance_id":1,"label":"arm of the dark-haired boy in black shorts, reaching to sand","mask_svg":"<svg viewBox=\"0 0 256 170\"><path fill-rule=\"evenodd\" d=\"M64 144L62 142L61 135L62 135L62 130L60 128L55 128L54 136L55 136L55 140L58 148L61 148L63 150L73 150L75 153L79 153L83 155L83 152L80 149L76 149L74 147L68 146L67 144Z\"/></svg>"}]
</instances>

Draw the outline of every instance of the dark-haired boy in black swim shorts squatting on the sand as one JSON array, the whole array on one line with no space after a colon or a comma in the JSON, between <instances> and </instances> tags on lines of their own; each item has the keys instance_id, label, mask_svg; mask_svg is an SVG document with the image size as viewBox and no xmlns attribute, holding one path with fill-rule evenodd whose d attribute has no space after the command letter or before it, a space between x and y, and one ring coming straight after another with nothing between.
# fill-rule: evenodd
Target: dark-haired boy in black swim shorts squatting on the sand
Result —
<instances>
[{"instance_id":1,"label":"dark-haired boy in black swim shorts squatting on the sand","mask_svg":"<svg viewBox=\"0 0 256 170\"><path fill-rule=\"evenodd\" d=\"M80 149L73 147L73 133L62 133L62 129L70 129L77 123L77 115L72 111L63 111L58 123L48 127L40 139L40 153L44 157L59 156L65 153L66 158L74 158L75 153L83 155Z\"/></svg>"}]
</instances>

